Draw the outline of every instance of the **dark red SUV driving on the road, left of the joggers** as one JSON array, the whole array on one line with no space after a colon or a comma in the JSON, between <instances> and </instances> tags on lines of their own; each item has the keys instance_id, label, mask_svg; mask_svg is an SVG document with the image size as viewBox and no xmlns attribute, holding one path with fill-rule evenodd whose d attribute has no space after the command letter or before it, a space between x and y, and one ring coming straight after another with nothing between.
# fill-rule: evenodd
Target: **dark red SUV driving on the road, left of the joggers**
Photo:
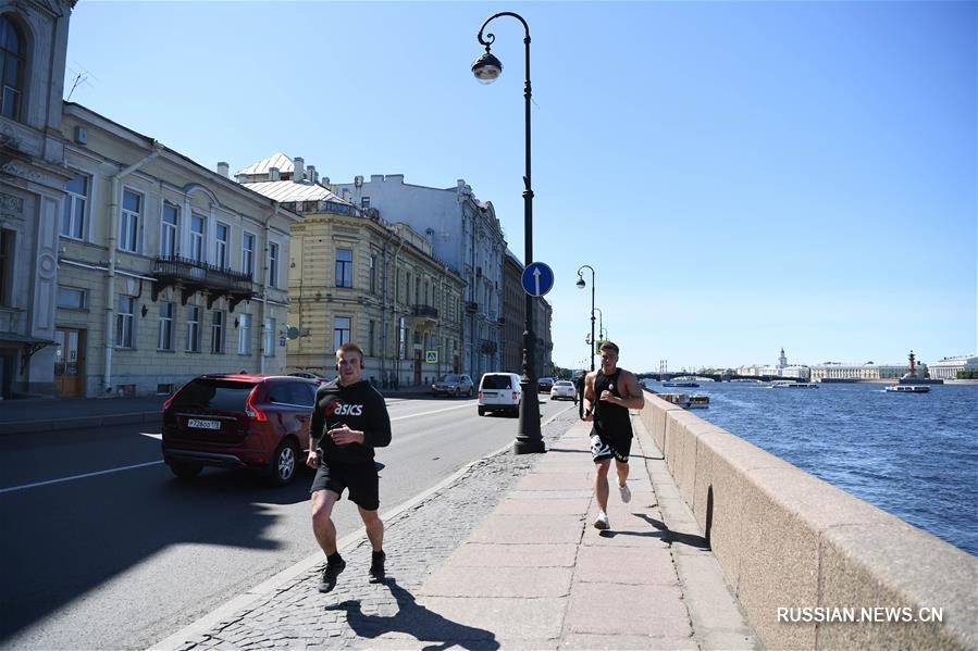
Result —
<instances>
[{"instance_id":1,"label":"dark red SUV driving on the road, left of the joggers","mask_svg":"<svg viewBox=\"0 0 978 651\"><path fill-rule=\"evenodd\" d=\"M282 375L196 377L163 403L163 460L177 477L209 465L256 468L289 484L309 449L317 387Z\"/></svg>"}]
</instances>

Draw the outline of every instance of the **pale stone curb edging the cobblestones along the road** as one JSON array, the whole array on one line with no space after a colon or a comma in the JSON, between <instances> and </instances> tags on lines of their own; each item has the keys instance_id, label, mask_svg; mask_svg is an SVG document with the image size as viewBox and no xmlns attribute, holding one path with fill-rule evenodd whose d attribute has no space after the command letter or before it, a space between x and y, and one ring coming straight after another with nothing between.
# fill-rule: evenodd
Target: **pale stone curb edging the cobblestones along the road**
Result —
<instances>
[{"instance_id":1,"label":"pale stone curb edging the cobblestones along the road","mask_svg":"<svg viewBox=\"0 0 978 651\"><path fill-rule=\"evenodd\" d=\"M571 409L571 408L568 408ZM560 410L545 422L541 423L541 427L547 425L558 416L564 414L567 409ZM487 459L492 459L499 454L504 454L508 450L512 448L512 442L508 442L495 452L490 452L474 461L471 461L457 470L451 475L445 477L428 490L424 490L417 496L408 499L405 502L401 502L391 511L381 514L381 519L387 522L389 519L394 519L405 511L409 511L422 502L426 501L431 496L447 488L448 486L455 484L458 479L469 473L475 465L484 462ZM336 550L337 551L347 551L357 544L360 543L363 539L367 538L367 531L361 527L352 534L348 534L336 541ZM237 597L233 597L231 601L220 605L216 610L203 615L193 624L189 624L171 635L170 637L160 640L159 642L149 647L147 651L176 651L181 649L188 640L195 637L200 637L202 635L207 635L209 631L213 630L218 625L230 622L235 616L239 615L243 611L248 611L249 606L253 605L256 602L262 600L265 597L270 597L272 593L276 592L278 588L285 584L293 583L296 577L308 574L312 571L317 565L322 565L324 561L322 551L317 551L311 555L302 559L290 567L286 567L278 574L269 577L264 581L258 584L253 588L248 591L238 594Z\"/></svg>"}]
</instances>

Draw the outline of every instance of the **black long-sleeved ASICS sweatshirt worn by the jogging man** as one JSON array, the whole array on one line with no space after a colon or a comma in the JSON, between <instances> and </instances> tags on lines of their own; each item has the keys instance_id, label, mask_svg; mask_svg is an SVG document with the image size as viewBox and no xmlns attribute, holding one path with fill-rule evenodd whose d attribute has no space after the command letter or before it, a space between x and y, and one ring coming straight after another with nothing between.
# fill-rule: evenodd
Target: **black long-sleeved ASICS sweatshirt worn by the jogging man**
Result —
<instances>
[{"instance_id":1,"label":"black long-sleeved ASICS sweatshirt worn by the jogging man","mask_svg":"<svg viewBox=\"0 0 978 651\"><path fill-rule=\"evenodd\" d=\"M325 436L330 429L343 425L362 431L363 443L337 446ZM312 408L309 436L319 439L318 447L327 461L361 463L372 460L374 448L391 443L391 417L384 397L367 380L344 387L337 378L320 385Z\"/></svg>"}]
</instances>

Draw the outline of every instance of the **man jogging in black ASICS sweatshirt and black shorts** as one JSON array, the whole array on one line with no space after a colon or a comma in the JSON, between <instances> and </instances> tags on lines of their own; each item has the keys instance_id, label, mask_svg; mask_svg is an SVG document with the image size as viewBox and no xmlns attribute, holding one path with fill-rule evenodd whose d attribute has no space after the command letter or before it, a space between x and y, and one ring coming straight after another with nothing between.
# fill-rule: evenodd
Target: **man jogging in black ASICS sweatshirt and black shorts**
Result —
<instances>
[{"instance_id":1,"label":"man jogging in black ASICS sweatshirt and black shorts","mask_svg":"<svg viewBox=\"0 0 978 651\"><path fill-rule=\"evenodd\" d=\"M379 477L373 449L391 442L391 417L384 398L362 379L363 351L344 343L336 351L336 379L319 387L309 425L309 458L317 468L312 480L312 531L326 554L320 592L336 586L346 561L336 550L336 527L331 515L343 491L360 511L373 548L370 583L384 580L384 523L377 516Z\"/></svg>"}]
</instances>

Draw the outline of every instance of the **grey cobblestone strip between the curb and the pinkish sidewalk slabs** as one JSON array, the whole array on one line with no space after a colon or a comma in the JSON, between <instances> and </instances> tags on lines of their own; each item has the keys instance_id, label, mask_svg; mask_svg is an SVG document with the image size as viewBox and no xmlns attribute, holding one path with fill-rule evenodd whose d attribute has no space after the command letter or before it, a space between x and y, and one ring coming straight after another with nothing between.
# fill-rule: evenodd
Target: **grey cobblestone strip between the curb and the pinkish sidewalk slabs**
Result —
<instances>
[{"instance_id":1,"label":"grey cobblestone strip between the curb and the pinkish sidewalk slabs","mask_svg":"<svg viewBox=\"0 0 978 651\"><path fill-rule=\"evenodd\" d=\"M577 411L570 410L546 423L542 434L547 446L574 422ZM370 543L361 538L342 550L346 571L329 594L318 590L320 565L178 648L356 649L376 646L374 638L386 630L450 625L417 606L413 593L540 459L511 450L483 459L451 485L385 522L386 584L367 581Z\"/></svg>"}]
</instances>

